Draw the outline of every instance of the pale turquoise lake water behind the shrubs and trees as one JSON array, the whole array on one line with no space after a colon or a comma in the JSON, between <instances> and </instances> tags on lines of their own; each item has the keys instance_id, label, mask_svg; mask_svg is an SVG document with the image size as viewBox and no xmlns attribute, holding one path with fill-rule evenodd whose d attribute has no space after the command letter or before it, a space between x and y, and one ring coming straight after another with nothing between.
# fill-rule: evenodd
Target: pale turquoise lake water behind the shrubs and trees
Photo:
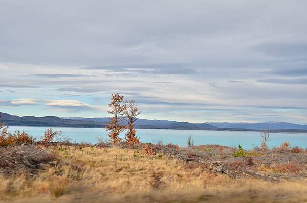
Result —
<instances>
[{"instance_id":1,"label":"pale turquoise lake water behind the shrubs and trees","mask_svg":"<svg viewBox=\"0 0 307 203\"><path fill-rule=\"evenodd\" d=\"M9 131L24 130L30 135L40 137L46 127L9 127ZM61 130L72 142L90 142L95 144L96 137L106 138L107 131L103 128L53 128ZM194 140L195 145L219 144L225 146L242 145L245 149L251 149L255 145L260 145L260 132L245 131L203 131L203 130L168 130L168 129L137 129L137 135L141 137L141 142L154 143L162 140L164 144L173 143L179 146L186 146L189 136ZM122 137L124 134L121 135ZM307 148L307 134L300 133L270 133L269 147L279 146L284 141L290 142L290 146Z\"/></svg>"}]
</instances>

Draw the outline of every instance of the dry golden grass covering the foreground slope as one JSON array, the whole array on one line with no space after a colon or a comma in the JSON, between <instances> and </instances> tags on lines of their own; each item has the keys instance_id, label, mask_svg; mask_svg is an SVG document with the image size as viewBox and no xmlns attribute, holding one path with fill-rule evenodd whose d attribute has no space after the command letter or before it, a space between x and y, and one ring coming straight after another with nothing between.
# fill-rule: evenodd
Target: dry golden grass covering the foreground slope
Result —
<instances>
[{"instance_id":1,"label":"dry golden grass covering the foreground slope","mask_svg":"<svg viewBox=\"0 0 307 203\"><path fill-rule=\"evenodd\" d=\"M33 176L0 173L0 202L307 202L307 182L233 180L137 149L51 146Z\"/></svg>"}]
</instances>

